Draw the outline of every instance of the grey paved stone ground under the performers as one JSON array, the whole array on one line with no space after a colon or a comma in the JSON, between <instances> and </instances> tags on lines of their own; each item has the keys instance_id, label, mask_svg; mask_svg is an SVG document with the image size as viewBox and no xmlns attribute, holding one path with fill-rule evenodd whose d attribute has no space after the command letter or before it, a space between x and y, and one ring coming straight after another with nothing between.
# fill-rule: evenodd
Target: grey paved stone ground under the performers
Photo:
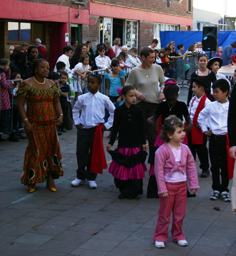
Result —
<instances>
[{"instance_id":1,"label":"grey paved stone ground under the performers","mask_svg":"<svg viewBox=\"0 0 236 256\"><path fill-rule=\"evenodd\" d=\"M185 101L186 95L187 90L181 89L179 100ZM135 200L118 199L119 191L108 170L98 175L97 189L71 187L77 165L75 128L59 140L64 176L56 180L58 192L49 191L43 183L31 194L20 183L27 140L0 142L1 256L236 255L236 215L231 203L209 200L211 177L200 178L199 168L201 188L195 198L187 199L183 223L189 246L178 246L170 234L166 248L157 249L152 235L159 199L146 198L148 171L144 194ZM110 155L106 156L110 163ZM214 206L220 211L213 210ZM91 235L93 232L98 233Z\"/></svg>"}]
</instances>

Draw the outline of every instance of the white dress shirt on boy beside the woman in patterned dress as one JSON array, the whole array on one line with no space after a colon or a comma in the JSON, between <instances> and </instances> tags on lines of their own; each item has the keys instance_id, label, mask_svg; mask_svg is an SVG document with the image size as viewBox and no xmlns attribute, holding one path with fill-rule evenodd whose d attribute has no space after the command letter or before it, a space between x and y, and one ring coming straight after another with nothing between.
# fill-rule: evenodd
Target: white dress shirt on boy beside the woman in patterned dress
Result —
<instances>
[{"instance_id":1,"label":"white dress shirt on boy beside the woman in patterned dress","mask_svg":"<svg viewBox=\"0 0 236 256\"><path fill-rule=\"evenodd\" d=\"M75 125L81 123L84 125L84 128L89 129L104 123L105 109L109 110L110 116L104 126L110 129L113 125L115 110L115 106L110 99L100 92L95 94L88 92L79 96L72 110ZM82 110L81 116L80 110Z\"/></svg>"}]
</instances>

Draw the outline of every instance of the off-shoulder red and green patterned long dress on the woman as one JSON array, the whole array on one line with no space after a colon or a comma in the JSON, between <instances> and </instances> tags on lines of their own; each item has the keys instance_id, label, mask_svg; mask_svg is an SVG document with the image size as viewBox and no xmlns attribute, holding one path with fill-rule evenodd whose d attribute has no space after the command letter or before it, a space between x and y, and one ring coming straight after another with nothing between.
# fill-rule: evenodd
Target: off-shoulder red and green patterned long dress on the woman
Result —
<instances>
[{"instance_id":1,"label":"off-shoulder red and green patterned long dress on the woman","mask_svg":"<svg viewBox=\"0 0 236 256\"><path fill-rule=\"evenodd\" d=\"M53 100L59 96L57 85L40 90L23 82L17 94L27 97L27 117L33 126L33 132L27 133L29 144L21 183L43 183L49 170L52 177L58 179L63 176L63 169L53 106Z\"/></svg>"}]
</instances>

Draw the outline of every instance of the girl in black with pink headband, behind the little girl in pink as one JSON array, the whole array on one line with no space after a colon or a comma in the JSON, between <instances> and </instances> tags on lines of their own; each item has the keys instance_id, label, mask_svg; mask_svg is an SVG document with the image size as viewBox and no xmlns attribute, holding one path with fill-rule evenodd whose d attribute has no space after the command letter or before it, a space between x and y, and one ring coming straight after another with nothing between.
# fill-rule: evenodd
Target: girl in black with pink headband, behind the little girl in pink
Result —
<instances>
[{"instance_id":1,"label":"girl in black with pink headband, behind the little girl in pink","mask_svg":"<svg viewBox=\"0 0 236 256\"><path fill-rule=\"evenodd\" d=\"M155 114L148 118L147 122L148 125L154 125L154 121L159 118L161 115L161 123L164 124L166 117L169 115L176 115L181 121L183 121L183 117L185 118L185 127L184 130L190 132L192 130L192 120L190 119L187 106L184 102L178 101L178 91L179 87L175 81L175 79L171 78L166 80L165 87L163 93L165 95L166 101L163 101L159 104ZM157 184L154 175L154 158L155 158L155 151L158 147L163 145L165 142L161 140L161 132L157 135L154 147L152 151L149 153L148 163L150 163L149 169L149 182L148 182L148 190L147 190L147 198L158 198L157 195ZM182 144L187 145L187 135L184 138Z\"/></svg>"}]
</instances>

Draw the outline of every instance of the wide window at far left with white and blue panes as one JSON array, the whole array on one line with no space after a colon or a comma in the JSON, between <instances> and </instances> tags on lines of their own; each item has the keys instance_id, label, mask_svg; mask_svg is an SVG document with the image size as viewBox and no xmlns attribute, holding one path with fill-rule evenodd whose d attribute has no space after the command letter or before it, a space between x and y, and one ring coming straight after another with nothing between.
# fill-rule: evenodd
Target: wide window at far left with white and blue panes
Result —
<instances>
[{"instance_id":1,"label":"wide window at far left with white and blue panes","mask_svg":"<svg viewBox=\"0 0 236 256\"><path fill-rule=\"evenodd\" d=\"M43 23L8 22L9 42L33 42L35 38L45 41L45 26Z\"/></svg>"}]
</instances>

